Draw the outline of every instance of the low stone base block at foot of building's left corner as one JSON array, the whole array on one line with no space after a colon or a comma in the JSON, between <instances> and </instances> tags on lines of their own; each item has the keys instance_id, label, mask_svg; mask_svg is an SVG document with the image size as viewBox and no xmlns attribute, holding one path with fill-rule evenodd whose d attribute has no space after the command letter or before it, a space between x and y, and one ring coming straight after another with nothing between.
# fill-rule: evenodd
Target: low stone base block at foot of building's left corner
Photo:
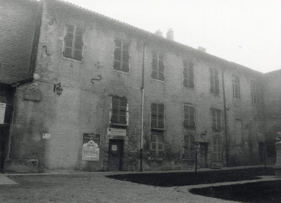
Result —
<instances>
[{"instance_id":1,"label":"low stone base block at foot of building's left corner","mask_svg":"<svg viewBox=\"0 0 281 203\"><path fill-rule=\"evenodd\" d=\"M9 159L5 162L4 172L10 173L39 173L38 159Z\"/></svg>"}]
</instances>

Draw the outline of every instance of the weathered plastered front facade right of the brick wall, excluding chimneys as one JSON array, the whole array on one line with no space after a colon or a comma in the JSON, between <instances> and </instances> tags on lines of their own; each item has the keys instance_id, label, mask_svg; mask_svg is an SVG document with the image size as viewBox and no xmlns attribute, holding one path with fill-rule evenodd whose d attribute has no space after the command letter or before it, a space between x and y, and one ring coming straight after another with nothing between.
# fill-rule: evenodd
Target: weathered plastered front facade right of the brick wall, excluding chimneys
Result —
<instances>
[{"instance_id":1,"label":"weathered plastered front facade right of the brick wall, excluding chimneys","mask_svg":"<svg viewBox=\"0 0 281 203\"><path fill-rule=\"evenodd\" d=\"M118 143L122 152L117 170L194 168L194 155L185 154L194 152L186 149L194 144L189 140L187 145L186 136L205 147L204 152L199 148L201 167L260 163L259 143L266 141L269 125L266 102L272 96L263 91L271 85L264 74L63 1L41 0L38 7L32 68L25 71L30 75L31 70L33 82L15 86L5 171L114 170L111 151ZM83 28L81 60L65 57L68 23ZM116 40L129 43L128 71L114 68ZM163 79L153 78L155 50L163 53ZM192 86L184 85L183 61L193 64ZM15 76L10 83L17 81ZM60 97L53 91L58 83ZM39 99L27 98L26 91L36 92ZM116 96L126 98L126 124L111 122ZM164 107L163 128L152 127L152 104ZM188 117L194 125L185 124L185 106L194 110ZM280 126L278 118L275 122ZM109 128L125 129L126 134L110 135ZM42 139L43 133L50 139ZM82 161L83 133L100 134L99 161ZM163 137L155 142L163 156L152 156L153 135Z\"/></svg>"}]
</instances>

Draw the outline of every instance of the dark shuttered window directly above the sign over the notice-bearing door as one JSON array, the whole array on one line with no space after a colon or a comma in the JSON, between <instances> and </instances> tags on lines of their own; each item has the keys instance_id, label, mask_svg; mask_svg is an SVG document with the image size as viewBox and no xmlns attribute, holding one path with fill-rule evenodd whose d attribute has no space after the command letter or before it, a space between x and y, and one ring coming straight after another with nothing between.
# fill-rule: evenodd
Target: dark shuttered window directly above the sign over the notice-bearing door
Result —
<instances>
[{"instance_id":1,"label":"dark shuttered window directly above the sign over the notice-bearing door","mask_svg":"<svg viewBox=\"0 0 281 203\"><path fill-rule=\"evenodd\" d=\"M112 97L111 124L127 124L127 99Z\"/></svg>"}]
</instances>

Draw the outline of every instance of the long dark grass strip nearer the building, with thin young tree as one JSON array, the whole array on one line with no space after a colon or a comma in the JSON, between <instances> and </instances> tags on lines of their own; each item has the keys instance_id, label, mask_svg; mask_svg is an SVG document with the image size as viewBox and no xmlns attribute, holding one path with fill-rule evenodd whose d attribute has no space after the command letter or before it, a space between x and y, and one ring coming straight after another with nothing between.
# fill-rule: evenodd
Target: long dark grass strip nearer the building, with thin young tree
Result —
<instances>
[{"instance_id":1,"label":"long dark grass strip nearer the building, with thin young tree","mask_svg":"<svg viewBox=\"0 0 281 203\"><path fill-rule=\"evenodd\" d=\"M217 182L233 182L241 180L260 179L257 176L275 175L273 168L244 168L217 171L173 172L173 173L134 173L108 175L117 180L130 181L139 184L171 187Z\"/></svg>"}]
</instances>

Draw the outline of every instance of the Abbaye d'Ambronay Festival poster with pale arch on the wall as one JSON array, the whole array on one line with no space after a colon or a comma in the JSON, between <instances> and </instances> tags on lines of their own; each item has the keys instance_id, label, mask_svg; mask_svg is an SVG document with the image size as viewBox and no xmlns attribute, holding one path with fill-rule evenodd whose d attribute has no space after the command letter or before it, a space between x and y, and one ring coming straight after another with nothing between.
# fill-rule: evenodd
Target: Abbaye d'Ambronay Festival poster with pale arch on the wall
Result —
<instances>
[{"instance_id":1,"label":"Abbaye d'Ambronay Festival poster with pale arch on the wall","mask_svg":"<svg viewBox=\"0 0 281 203\"><path fill-rule=\"evenodd\" d=\"M98 161L100 155L100 135L83 133L82 161Z\"/></svg>"}]
</instances>

